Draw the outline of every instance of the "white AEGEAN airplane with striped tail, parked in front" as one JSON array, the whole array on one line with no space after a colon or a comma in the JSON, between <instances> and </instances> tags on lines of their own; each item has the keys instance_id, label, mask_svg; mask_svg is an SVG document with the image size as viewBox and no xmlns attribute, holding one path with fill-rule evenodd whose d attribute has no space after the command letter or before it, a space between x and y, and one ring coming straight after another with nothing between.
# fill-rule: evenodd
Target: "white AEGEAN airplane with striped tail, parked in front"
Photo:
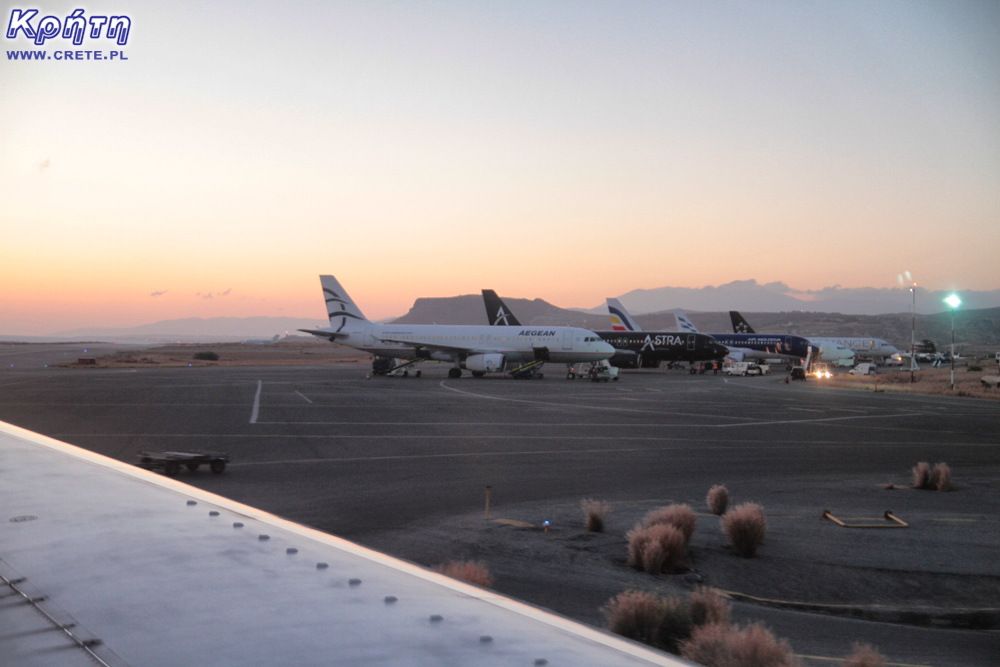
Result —
<instances>
[{"instance_id":1,"label":"white AEGEAN airplane with striped tail, parked in front","mask_svg":"<svg viewBox=\"0 0 1000 667\"><path fill-rule=\"evenodd\" d=\"M509 364L546 361L572 365L608 359L615 348L593 331L576 327L489 326L465 324L375 324L362 314L333 276L320 276L330 326L299 331L347 345L383 359L408 359L454 364L448 377L474 377L503 372ZM397 366L393 370L398 370Z\"/></svg>"}]
</instances>

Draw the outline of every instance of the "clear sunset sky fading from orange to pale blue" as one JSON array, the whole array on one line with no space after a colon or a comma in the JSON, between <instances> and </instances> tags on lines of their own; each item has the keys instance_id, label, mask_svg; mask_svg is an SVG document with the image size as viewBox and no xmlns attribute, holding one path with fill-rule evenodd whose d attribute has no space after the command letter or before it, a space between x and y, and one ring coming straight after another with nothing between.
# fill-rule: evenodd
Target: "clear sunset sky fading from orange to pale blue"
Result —
<instances>
[{"instance_id":1,"label":"clear sunset sky fading from orange to pale blue","mask_svg":"<svg viewBox=\"0 0 1000 667\"><path fill-rule=\"evenodd\" d=\"M321 273L372 319L484 287L1000 288L997 2L84 8L127 44L4 33L0 333L323 319Z\"/></svg>"}]
</instances>

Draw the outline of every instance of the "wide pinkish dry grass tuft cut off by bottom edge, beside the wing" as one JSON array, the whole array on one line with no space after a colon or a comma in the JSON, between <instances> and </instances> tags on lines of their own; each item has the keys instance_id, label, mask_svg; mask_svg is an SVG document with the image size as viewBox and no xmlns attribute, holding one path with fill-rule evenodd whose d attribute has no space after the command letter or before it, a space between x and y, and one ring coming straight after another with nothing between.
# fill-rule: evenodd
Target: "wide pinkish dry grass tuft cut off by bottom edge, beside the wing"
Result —
<instances>
[{"instance_id":1,"label":"wide pinkish dry grass tuft cut off by bottom edge, beside the wing","mask_svg":"<svg viewBox=\"0 0 1000 667\"><path fill-rule=\"evenodd\" d=\"M703 625L681 643L681 656L703 665L725 667L794 667L799 661L783 639L759 623Z\"/></svg>"}]
</instances>

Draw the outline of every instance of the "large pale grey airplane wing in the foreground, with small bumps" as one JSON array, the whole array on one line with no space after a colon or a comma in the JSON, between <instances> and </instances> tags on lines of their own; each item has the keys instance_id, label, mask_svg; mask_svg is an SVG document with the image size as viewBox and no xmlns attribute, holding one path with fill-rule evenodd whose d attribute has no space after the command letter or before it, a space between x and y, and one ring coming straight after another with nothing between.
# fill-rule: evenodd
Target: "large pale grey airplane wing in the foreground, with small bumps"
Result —
<instances>
[{"instance_id":1,"label":"large pale grey airplane wing in the foreground, with small bumps","mask_svg":"<svg viewBox=\"0 0 1000 667\"><path fill-rule=\"evenodd\" d=\"M686 665L0 422L4 664Z\"/></svg>"}]
</instances>

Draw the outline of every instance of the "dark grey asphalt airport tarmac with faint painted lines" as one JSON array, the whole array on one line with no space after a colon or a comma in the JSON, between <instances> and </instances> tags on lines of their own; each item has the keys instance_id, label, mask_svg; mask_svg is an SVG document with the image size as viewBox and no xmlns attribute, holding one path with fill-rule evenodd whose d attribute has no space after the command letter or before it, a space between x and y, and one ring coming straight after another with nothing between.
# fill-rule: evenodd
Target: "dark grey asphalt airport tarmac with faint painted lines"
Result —
<instances>
[{"instance_id":1,"label":"dark grey asphalt airport tarmac with faint painted lines","mask_svg":"<svg viewBox=\"0 0 1000 667\"><path fill-rule=\"evenodd\" d=\"M704 583L808 664L856 640L890 664L995 664L996 401L786 384L778 372L591 383L552 365L531 381L449 380L436 364L419 379L367 378L361 364L46 367L82 349L0 351L15 363L0 370L0 419L123 461L227 451L225 474L178 479L422 565L484 560L501 592L594 624L628 588ZM908 488L919 461L947 462L955 491ZM705 508L713 484L731 506L764 506L758 558L728 550ZM487 486L490 519L506 522L485 518ZM611 504L605 533L583 530L583 498ZM625 532L668 502L700 514L689 570L625 567ZM842 527L824 510L886 527Z\"/></svg>"}]
</instances>

